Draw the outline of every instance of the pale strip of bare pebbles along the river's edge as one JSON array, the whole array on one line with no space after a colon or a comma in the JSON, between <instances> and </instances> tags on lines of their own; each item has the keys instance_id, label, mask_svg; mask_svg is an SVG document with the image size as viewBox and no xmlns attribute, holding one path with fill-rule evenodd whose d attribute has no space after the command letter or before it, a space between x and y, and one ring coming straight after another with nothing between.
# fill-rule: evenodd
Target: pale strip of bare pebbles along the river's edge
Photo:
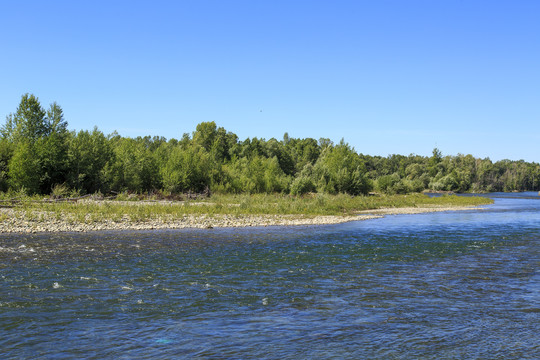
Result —
<instances>
[{"instance_id":1,"label":"pale strip of bare pebbles along the river's edge","mask_svg":"<svg viewBox=\"0 0 540 360\"><path fill-rule=\"evenodd\" d=\"M415 207L387 208L361 211L355 216L298 216L298 215L185 215L179 218L161 218L137 222L129 217L122 219L77 222L58 219L51 214L42 213L39 217L28 217L24 212L13 208L0 209L0 233L42 233L42 232L88 232L101 230L153 230L185 228L222 228L252 226L295 226L326 225L349 221L375 219L384 215L418 214L425 212L472 210L476 207Z\"/></svg>"}]
</instances>

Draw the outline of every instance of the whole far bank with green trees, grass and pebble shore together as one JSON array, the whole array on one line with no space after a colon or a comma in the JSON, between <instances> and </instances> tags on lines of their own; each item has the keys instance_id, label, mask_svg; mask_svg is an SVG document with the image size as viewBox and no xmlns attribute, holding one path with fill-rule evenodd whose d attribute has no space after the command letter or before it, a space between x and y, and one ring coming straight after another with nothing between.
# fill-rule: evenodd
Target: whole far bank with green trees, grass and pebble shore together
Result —
<instances>
[{"instance_id":1,"label":"whole far bank with green trees, grass and pebble shore together","mask_svg":"<svg viewBox=\"0 0 540 360\"><path fill-rule=\"evenodd\" d=\"M331 224L539 190L538 163L437 148L371 156L344 139L241 140L213 121L170 139L68 130L59 104L28 93L0 126L0 233Z\"/></svg>"}]
</instances>

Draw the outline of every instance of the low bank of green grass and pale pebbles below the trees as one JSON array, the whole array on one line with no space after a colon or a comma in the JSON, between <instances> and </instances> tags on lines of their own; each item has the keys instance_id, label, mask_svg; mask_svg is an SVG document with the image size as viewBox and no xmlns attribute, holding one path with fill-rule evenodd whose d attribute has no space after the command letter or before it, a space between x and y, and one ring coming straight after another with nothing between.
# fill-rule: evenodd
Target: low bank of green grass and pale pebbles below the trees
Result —
<instances>
[{"instance_id":1,"label":"low bank of green grass and pale pebbles below the trees","mask_svg":"<svg viewBox=\"0 0 540 360\"><path fill-rule=\"evenodd\" d=\"M0 233L325 225L390 214L471 210L493 202L485 197L422 194L212 195L184 201L97 197L52 200L38 197L3 200Z\"/></svg>"}]
</instances>

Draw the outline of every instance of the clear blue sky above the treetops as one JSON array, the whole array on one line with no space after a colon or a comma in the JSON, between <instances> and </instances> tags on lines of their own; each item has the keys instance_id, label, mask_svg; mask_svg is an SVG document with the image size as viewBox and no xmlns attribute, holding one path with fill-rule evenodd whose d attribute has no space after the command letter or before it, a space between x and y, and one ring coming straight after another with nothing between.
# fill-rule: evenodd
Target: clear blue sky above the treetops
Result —
<instances>
[{"instance_id":1,"label":"clear blue sky above the treetops","mask_svg":"<svg viewBox=\"0 0 540 360\"><path fill-rule=\"evenodd\" d=\"M540 1L0 0L0 116L540 162Z\"/></svg>"}]
</instances>

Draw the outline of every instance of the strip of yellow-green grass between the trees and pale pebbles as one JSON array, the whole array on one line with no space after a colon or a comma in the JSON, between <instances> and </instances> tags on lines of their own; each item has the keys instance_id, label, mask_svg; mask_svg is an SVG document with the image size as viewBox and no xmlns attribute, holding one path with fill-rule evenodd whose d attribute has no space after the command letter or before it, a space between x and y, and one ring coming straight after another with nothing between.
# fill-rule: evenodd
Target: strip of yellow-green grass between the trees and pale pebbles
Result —
<instances>
[{"instance_id":1,"label":"strip of yellow-green grass between the trees and pale pebbles","mask_svg":"<svg viewBox=\"0 0 540 360\"><path fill-rule=\"evenodd\" d=\"M131 222L178 219L190 215L354 215L361 210L422 206L470 206L492 203L484 197L441 196L430 198L422 194L349 196L314 194L289 195L213 195L209 199L186 202L143 201L79 201L36 202L37 198L22 198L17 210L27 218L39 219L42 214L70 223L101 221Z\"/></svg>"}]
</instances>

